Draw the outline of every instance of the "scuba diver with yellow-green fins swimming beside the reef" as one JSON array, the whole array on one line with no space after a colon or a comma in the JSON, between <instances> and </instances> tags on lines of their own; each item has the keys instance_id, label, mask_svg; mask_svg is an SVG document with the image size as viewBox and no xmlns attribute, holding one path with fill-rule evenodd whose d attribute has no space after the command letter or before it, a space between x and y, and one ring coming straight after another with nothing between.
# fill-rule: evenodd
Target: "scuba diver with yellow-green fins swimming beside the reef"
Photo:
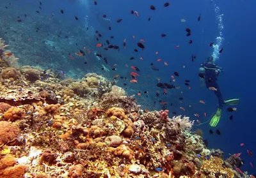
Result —
<instances>
[{"instance_id":1,"label":"scuba diver with yellow-green fins swimming beside the reef","mask_svg":"<svg viewBox=\"0 0 256 178\"><path fill-rule=\"evenodd\" d=\"M210 126L216 127L218 122L220 121L221 111L224 104L227 105L237 105L239 103L239 99L232 100L223 100L220 87L217 84L217 77L220 75L221 71L224 71L223 68L220 68L216 64L214 64L213 57L207 57L207 61L202 63L199 68L199 77L201 80L201 85L205 84L205 86L209 89L209 87L214 87L214 94L218 98L218 109L216 114L213 115L210 121Z\"/></svg>"}]
</instances>

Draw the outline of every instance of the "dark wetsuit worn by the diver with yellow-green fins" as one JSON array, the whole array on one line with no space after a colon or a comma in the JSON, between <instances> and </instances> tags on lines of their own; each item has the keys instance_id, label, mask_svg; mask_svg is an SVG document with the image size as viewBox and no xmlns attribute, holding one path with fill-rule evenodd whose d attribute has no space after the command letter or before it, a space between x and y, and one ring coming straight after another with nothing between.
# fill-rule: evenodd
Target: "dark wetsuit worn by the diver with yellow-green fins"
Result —
<instances>
[{"instance_id":1,"label":"dark wetsuit worn by the diver with yellow-green fins","mask_svg":"<svg viewBox=\"0 0 256 178\"><path fill-rule=\"evenodd\" d=\"M214 91L215 95L218 98L219 108L223 108L224 100L222 98L220 87L217 84L217 77L219 75L219 72L216 73L216 70L221 70L220 67L216 66L216 64L212 63L202 63L200 67L205 68L204 78L205 78L205 85L207 88L209 87L215 87L218 89L217 91Z\"/></svg>"}]
</instances>

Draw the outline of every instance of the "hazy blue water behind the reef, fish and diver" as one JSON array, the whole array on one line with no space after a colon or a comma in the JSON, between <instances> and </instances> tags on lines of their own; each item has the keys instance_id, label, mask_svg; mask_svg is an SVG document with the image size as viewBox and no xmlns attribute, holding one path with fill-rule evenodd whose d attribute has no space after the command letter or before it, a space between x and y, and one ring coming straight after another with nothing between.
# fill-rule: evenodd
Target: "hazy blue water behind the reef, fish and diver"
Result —
<instances>
[{"instance_id":1,"label":"hazy blue water behind the reef, fish and diver","mask_svg":"<svg viewBox=\"0 0 256 178\"><path fill-rule=\"evenodd\" d=\"M182 0L170 1L170 6L166 8L163 7L164 3L101 0L97 1L95 6L93 1L42 0L40 10L38 1L2 0L0 36L11 45L15 55L20 57L19 64L63 70L67 76L74 78L95 72L113 80L113 75L119 74L127 77L127 80L118 78L118 85L124 87L129 95L141 92L141 96L136 95L136 99L143 108L160 110L163 105L159 100L166 101L168 105L164 107L170 110L170 117L172 112L177 112L197 119L194 114L198 113L201 122L207 121L216 111L218 101L212 91L200 87L198 67L207 56L218 54L223 47L223 52L218 57L214 56L216 64L225 70L218 77L218 84L223 98L240 98L237 112L232 113L234 121L228 119L230 113L225 107L217 126L221 131L220 136L209 135L211 128L208 123L195 126L195 129L201 128L204 131L204 138L209 140L209 147L220 148L225 152L225 157L228 157L228 153L242 152L244 166L241 170L255 173L249 165L249 162L256 165L255 158L246 153L247 149L253 153L256 151L256 121L253 115L253 101L256 100L256 75L253 72L256 64L256 38L253 26L255 1ZM150 5L156 6L156 10L150 10ZM36 10L40 13L36 13ZM60 10L64 13L61 14ZM131 10L138 11L139 17L132 15ZM25 18L24 13L28 17ZM201 20L198 22L200 13ZM103 14L107 15L107 19L102 17ZM17 22L18 16L22 22ZM74 19L75 16L79 20ZM149 22L148 17L151 18ZM117 23L117 19L122 19L122 22ZM185 19L186 22L180 22L181 19ZM108 29L109 26L111 31ZM36 27L39 28L39 32L36 32ZM186 27L192 31L189 37L186 36ZM95 40L96 30L102 34L99 41ZM161 37L162 33L166 34L166 37ZM114 38L110 39L110 36ZM218 36L221 37L221 41L214 51L214 48L209 47L209 43L216 44ZM126 49L122 46L124 39L127 39ZM145 40L145 50L136 45L141 39ZM97 43L106 43L106 40L118 45L120 52L96 47ZM193 40L193 43L189 44L188 40ZM179 48L176 48L177 45ZM76 56L74 53L79 52L81 48L84 52L89 49L90 54L86 52L86 56ZM134 52L134 48L139 52ZM70 59L68 52L74 59ZM107 57L108 64L104 63L103 59L98 60L93 52ZM156 52L159 54L156 55ZM192 54L196 56L194 62L191 61ZM136 59L131 61L129 57ZM143 57L143 60L140 60L140 57ZM163 61L156 62L159 58ZM85 61L87 64L84 64ZM168 66L164 65L164 61ZM159 71L153 71L150 63L154 63ZM102 64L110 71L102 71ZM116 71L111 70L114 64L117 65ZM132 79L131 66L140 69L137 84L129 82ZM164 95L163 89L156 87L157 78L160 78L161 82L169 83L174 71L177 71L180 77L175 77L176 82L171 84L179 86L180 89L168 89L168 93ZM184 85L184 80L191 81L191 89ZM124 83L127 85L124 86ZM145 94L144 91L148 93ZM156 96L157 91L159 97ZM180 97L184 98L182 103ZM202 105L199 100L204 100L206 104ZM180 110L180 107L184 107L186 111ZM206 118L203 116L204 112L207 113ZM245 144L244 147L240 147L241 143Z\"/></svg>"}]
</instances>

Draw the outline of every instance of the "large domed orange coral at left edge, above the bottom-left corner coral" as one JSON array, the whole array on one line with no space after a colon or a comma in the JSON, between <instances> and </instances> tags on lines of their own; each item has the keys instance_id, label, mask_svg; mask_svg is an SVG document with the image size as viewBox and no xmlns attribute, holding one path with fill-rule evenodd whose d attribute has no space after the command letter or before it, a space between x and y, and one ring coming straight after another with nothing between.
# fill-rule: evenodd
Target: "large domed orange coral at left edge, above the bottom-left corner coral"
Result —
<instances>
[{"instance_id":1,"label":"large domed orange coral at left edge, above the bottom-left corner coral","mask_svg":"<svg viewBox=\"0 0 256 178\"><path fill-rule=\"evenodd\" d=\"M19 127L11 122L0 121L0 145L6 144L17 138L20 134Z\"/></svg>"}]
</instances>

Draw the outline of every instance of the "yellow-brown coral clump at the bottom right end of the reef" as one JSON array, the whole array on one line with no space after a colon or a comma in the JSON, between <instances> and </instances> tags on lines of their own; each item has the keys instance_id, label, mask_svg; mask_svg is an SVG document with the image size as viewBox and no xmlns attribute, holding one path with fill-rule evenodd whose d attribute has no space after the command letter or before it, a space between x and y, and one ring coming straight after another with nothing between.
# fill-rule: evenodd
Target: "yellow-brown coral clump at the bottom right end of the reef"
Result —
<instances>
[{"instance_id":1,"label":"yellow-brown coral clump at the bottom right end of the reef","mask_svg":"<svg viewBox=\"0 0 256 178\"><path fill-rule=\"evenodd\" d=\"M228 178L234 177L234 174L230 168L223 168L223 160L218 157L214 157L209 160L205 160L201 167L201 170L209 174L210 177L216 177L215 174L227 175Z\"/></svg>"}]
</instances>

